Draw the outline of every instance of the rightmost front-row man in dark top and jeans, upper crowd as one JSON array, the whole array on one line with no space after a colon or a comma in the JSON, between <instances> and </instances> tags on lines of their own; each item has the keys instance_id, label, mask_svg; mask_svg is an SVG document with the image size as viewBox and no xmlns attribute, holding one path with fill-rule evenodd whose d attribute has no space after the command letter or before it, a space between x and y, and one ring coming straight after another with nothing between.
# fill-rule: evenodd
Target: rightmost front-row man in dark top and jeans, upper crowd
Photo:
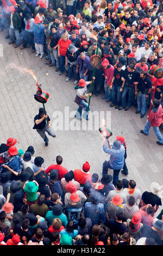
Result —
<instances>
[{"instance_id":1,"label":"rightmost front-row man in dark top and jeans, upper crowd","mask_svg":"<svg viewBox=\"0 0 163 256\"><path fill-rule=\"evenodd\" d=\"M151 93L152 82L147 76L147 72L145 70L140 70L139 75L139 83L137 84L137 110L135 114L141 112L140 117L143 118L147 109L147 98L149 97L149 93Z\"/></svg>"}]
</instances>

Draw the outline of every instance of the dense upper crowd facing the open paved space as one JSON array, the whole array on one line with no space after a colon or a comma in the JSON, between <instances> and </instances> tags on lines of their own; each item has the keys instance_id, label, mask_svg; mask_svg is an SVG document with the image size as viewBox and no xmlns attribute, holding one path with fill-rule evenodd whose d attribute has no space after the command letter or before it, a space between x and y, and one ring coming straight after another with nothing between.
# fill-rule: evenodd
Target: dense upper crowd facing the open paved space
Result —
<instances>
[{"instance_id":1,"label":"dense upper crowd facing the open paved space","mask_svg":"<svg viewBox=\"0 0 163 256\"><path fill-rule=\"evenodd\" d=\"M155 0L1 0L0 27L9 44L46 57L66 82L92 80L91 56L101 57L92 94L143 118L154 97L162 104L162 1ZM156 90L154 90L156 87ZM91 95L92 95L91 94Z\"/></svg>"}]
</instances>

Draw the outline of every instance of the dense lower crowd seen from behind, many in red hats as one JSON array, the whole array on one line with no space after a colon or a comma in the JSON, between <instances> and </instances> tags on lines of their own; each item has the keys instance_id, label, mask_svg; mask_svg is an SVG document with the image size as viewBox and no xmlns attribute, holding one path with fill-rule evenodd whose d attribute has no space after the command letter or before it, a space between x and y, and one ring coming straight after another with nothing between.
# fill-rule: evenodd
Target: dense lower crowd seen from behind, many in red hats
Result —
<instances>
[{"instance_id":1,"label":"dense lower crowd seen from behind, many in red hats","mask_svg":"<svg viewBox=\"0 0 163 256\"><path fill-rule=\"evenodd\" d=\"M110 149L114 175L105 167L102 177L87 161L68 171L60 155L45 167L32 145L24 151L16 143L8 138L0 145L0 245L163 244L162 186L152 182L141 191L135 180L115 179L123 137Z\"/></svg>"}]
</instances>

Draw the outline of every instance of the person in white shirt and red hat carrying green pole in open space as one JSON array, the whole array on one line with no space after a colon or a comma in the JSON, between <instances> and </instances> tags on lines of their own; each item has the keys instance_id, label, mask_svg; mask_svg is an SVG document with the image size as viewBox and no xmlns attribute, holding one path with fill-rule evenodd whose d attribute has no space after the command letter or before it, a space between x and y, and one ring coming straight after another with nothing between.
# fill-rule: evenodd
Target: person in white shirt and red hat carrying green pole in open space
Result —
<instances>
[{"instance_id":1,"label":"person in white shirt and red hat carrying green pole in open space","mask_svg":"<svg viewBox=\"0 0 163 256\"><path fill-rule=\"evenodd\" d=\"M95 77L93 77L93 80L95 80ZM78 86L75 87L75 89L77 89L77 95L74 99L74 102L76 102L79 107L74 117L76 117L79 120L82 120L83 108L85 108L85 111L83 113L83 118L86 120L89 120L88 115L90 112L90 107L88 109L88 103L86 101L86 98L91 97L92 94L91 93L87 94L86 92L87 92L87 86L91 83L92 81L85 81L84 79L80 79Z\"/></svg>"}]
</instances>

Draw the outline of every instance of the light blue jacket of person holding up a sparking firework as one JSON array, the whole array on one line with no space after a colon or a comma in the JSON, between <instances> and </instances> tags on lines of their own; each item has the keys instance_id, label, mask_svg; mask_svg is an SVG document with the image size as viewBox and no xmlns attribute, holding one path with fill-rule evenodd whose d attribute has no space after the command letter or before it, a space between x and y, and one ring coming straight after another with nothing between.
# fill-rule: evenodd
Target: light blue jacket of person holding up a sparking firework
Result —
<instances>
[{"instance_id":1,"label":"light blue jacket of person holding up a sparking firework","mask_svg":"<svg viewBox=\"0 0 163 256\"><path fill-rule=\"evenodd\" d=\"M120 170L124 166L124 154L125 149L123 145L121 145L120 149L114 149L108 147L108 141L103 144L103 150L105 153L110 155L110 166L112 169Z\"/></svg>"}]
</instances>

